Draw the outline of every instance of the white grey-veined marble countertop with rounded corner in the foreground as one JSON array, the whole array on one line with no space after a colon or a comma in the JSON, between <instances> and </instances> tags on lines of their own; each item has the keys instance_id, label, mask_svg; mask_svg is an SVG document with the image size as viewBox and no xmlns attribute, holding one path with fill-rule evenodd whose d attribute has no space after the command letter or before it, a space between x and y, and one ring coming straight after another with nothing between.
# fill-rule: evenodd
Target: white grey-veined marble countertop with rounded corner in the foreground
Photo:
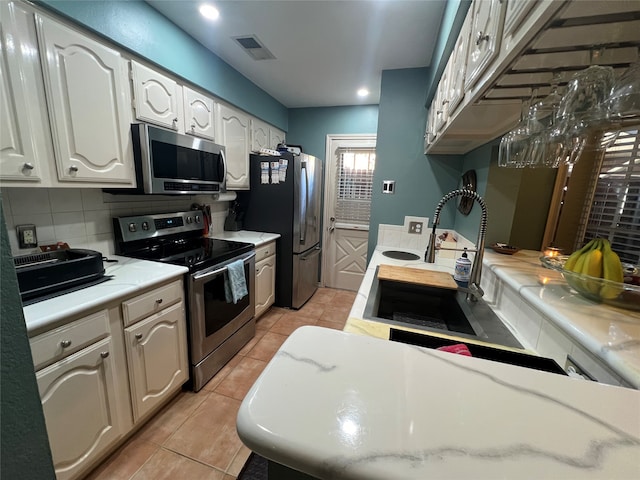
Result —
<instances>
[{"instance_id":1,"label":"white grey-veined marble countertop with rounded corner in the foreground","mask_svg":"<svg viewBox=\"0 0 640 480\"><path fill-rule=\"evenodd\" d=\"M640 392L321 327L296 330L238 434L320 479L640 478Z\"/></svg>"}]
</instances>

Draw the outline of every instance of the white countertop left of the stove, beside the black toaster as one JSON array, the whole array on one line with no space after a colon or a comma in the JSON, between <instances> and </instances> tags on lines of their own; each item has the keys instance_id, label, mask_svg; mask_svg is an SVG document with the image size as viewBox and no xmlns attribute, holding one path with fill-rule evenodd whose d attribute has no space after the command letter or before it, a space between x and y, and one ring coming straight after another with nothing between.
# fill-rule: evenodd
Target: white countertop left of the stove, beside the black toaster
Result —
<instances>
[{"instance_id":1,"label":"white countertop left of the stove, beside the black toaster","mask_svg":"<svg viewBox=\"0 0 640 480\"><path fill-rule=\"evenodd\" d=\"M23 307L28 335L50 330L69 317L177 279L189 271L187 267L115 255L109 259L117 262L104 263L105 277L111 277L105 282Z\"/></svg>"}]
</instances>

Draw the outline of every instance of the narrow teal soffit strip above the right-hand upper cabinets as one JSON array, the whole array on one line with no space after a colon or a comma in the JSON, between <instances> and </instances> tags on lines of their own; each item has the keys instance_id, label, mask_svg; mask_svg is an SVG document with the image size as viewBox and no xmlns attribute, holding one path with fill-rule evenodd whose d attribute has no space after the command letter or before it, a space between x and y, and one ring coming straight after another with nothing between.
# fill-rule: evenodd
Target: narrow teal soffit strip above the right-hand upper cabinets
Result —
<instances>
[{"instance_id":1,"label":"narrow teal soffit strip above the right-hand upper cabinets","mask_svg":"<svg viewBox=\"0 0 640 480\"><path fill-rule=\"evenodd\" d=\"M431 103L436 87L447 65L449 56L462 29L462 24L471 6L471 0L448 0L442 16L440 31L431 57L431 70L427 74L425 105Z\"/></svg>"}]
</instances>

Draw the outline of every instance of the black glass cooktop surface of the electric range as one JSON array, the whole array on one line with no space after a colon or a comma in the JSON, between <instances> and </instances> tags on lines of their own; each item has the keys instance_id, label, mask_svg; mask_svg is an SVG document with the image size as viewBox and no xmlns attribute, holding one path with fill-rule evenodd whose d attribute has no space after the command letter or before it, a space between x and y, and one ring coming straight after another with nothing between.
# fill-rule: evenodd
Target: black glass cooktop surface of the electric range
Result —
<instances>
[{"instance_id":1,"label":"black glass cooktop surface of the electric range","mask_svg":"<svg viewBox=\"0 0 640 480\"><path fill-rule=\"evenodd\" d=\"M198 237L189 239L158 239L157 243L146 245L125 256L153 260L189 269L202 269L230 260L254 249L253 244Z\"/></svg>"}]
</instances>

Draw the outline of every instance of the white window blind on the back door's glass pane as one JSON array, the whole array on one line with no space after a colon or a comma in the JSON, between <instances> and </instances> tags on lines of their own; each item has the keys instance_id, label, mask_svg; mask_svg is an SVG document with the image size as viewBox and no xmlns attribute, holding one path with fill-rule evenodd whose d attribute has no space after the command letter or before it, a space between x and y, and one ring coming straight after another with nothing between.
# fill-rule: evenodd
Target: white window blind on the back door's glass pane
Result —
<instances>
[{"instance_id":1,"label":"white window blind on the back door's glass pane","mask_svg":"<svg viewBox=\"0 0 640 480\"><path fill-rule=\"evenodd\" d=\"M339 149L336 168L336 222L369 224L375 149Z\"/></svg>"}]
</instances>

